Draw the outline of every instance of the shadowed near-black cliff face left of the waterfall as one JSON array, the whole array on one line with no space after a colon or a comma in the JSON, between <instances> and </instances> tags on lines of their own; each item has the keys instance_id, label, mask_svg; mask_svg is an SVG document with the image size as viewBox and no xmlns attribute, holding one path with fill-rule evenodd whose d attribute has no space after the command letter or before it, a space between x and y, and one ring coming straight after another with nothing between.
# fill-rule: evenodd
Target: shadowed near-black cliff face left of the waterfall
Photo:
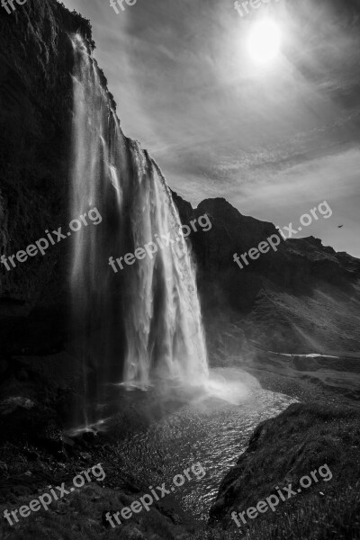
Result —
<instances>
[{"instance_id":1,"label":"shadowed near-black cliff face left of the waterfall","mask_svg":"<svg viewBox=\"0 0 360 540\"><path fill-rule=\"evenodd\" d=\"M69 36L80 32L92 46L89 23L56 0L16 7L12 14L0 9L0 252L6 257L68 222ZM49 334L61 341L69 247L59 243L11 271L1 265L3 353L41 350ZM31 310L30 325L24 317ZM45 349L54 348L50 342Z\"/></svg>"}]
</instances>

